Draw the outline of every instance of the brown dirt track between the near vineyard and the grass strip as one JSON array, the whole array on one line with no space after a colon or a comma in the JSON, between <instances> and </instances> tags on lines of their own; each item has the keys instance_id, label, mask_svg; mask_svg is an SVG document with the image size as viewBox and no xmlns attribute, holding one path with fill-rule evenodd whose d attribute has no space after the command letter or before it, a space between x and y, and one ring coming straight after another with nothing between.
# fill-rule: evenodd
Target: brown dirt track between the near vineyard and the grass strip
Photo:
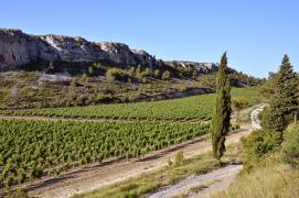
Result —
<instances>
[{"instance_id":1,"label":"brown dirt track between the near vineyard and the grass strip","mask_svg":"<svg viewBox=\"0 0 299 198\"><path fill-rule=\"evenodd\" d=\"M18 119L21 119L18 117ZM56 119L60 120L60 119ZM232 133L226 144L236 143L241 138L246 136L252 131L252 124L242 125L242 130ZM34 197L70 197L74 194L82 194L97 189L104 185L110 185L120 180L148 173L167 165L169 157L173 157L178 150L184 152L186 158L202 154L211 150L211 142L204 138L175 145L168 150L151 153L140 160L127 162L115 160L93 166L73 169L70 173L44 178L26 186L30 196Z\"/></svg>"}]
</instances>

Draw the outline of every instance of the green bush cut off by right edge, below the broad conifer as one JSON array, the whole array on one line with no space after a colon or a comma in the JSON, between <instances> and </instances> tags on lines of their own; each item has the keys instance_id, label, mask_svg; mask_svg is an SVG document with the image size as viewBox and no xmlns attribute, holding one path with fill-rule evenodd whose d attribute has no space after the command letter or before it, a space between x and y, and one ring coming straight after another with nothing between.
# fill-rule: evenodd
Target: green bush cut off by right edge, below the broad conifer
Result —
<instances>
[{"instance_id":1,"label":"green bush cut off by right edge, below the broad conifer","mask_svg":"<svg viewBox=\"0 0 299 198\"><path fill-rule=\"evenodd\" d=\"M291 124L285 131L282 158L292 167L299 167L299 124Z\"/></svg>"}]
</instances>

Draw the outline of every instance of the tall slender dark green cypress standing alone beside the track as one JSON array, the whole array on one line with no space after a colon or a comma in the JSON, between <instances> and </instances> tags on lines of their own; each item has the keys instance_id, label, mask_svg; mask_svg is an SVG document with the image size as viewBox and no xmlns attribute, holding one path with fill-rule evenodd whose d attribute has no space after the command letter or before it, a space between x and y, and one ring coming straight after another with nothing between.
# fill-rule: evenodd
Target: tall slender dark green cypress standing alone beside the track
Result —
<instances>
[{"instance_id":1,"label":"tall slender dark green cypress standing alone beside the track","mask_svg":"<svg viewBox=\"0 0 299 198\"><path fill-rule=\"evenodd\" d=\"M225 152L225 138L229 132L231 112L231 86L227 76L227 57L224 53L217 73L216 103L211 128L213 154L217 160Z\"/></svg>"}]
</instances>

